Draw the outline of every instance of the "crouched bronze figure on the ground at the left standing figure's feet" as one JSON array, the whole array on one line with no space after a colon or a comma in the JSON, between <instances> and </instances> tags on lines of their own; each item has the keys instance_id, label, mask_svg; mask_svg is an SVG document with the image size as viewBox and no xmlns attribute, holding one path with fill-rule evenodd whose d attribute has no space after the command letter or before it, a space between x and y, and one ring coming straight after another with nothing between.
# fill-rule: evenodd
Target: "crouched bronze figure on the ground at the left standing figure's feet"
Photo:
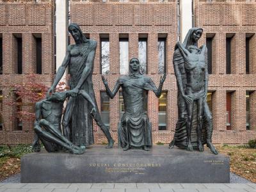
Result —
<instances>
[{"instance_id":1,"label":"crouched bronze figure on the ground at the left standing figure's feet","mask_svg":"<svg viewBox=\"0 0 256 192\"><path fill-rule=\"evenodd\" d=\"M70 91L52 93L46 99L36 102L36 118L34 123L35 137L32 144L35 152L40 151L39 140L44 144L47 152L58 152L64 149L72 154L83 154L84 149L71 143L61 133L61 115L63 103L70 96ZM79 91L79 95L92 104L92 115L95 115L96 106L88 93Z\"/></svg>"}]
</instances>

